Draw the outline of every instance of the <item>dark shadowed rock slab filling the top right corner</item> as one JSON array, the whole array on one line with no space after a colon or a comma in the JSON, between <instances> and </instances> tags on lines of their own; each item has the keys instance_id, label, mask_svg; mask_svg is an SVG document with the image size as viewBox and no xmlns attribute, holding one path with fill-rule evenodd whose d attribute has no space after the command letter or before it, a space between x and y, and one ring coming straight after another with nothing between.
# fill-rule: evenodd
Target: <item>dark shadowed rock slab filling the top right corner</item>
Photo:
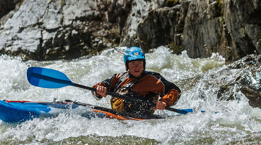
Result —
<instances>
[{"instance_id":1,"label":"dark shadowed rock slab filling the top right corner","mask_svg":"<svg viewBox=\"0 0 261 145\"><path fill-rule=\"evenodd\" d=\"M223 5L224 21L228 31L231 32L237 57L260 54L261 47L258 44L261 35L260 1L225 0Z\"/></svg>"}]
</instances>

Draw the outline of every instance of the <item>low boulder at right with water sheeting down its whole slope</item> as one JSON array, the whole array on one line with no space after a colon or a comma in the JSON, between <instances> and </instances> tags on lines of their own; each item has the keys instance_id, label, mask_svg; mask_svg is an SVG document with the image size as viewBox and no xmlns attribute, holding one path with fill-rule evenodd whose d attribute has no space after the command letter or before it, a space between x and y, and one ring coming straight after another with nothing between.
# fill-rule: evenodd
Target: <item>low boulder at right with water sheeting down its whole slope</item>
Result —
<instances>
[{"instance_id":1,"label":"low boulder at right with water sheeting down its whole slope","mask_svg":"<svg viewBox=\"0 0 261 145\"><path fill-rule=\"evenodd\" d=\"M261 55L247 55L233 63L197 74L179 86L195 98L214 99L218 104L221 100L237 102L245 95L249 105L261 108ZM220 105L224 104L221 102Z\"/></svg>"}]
</instances>

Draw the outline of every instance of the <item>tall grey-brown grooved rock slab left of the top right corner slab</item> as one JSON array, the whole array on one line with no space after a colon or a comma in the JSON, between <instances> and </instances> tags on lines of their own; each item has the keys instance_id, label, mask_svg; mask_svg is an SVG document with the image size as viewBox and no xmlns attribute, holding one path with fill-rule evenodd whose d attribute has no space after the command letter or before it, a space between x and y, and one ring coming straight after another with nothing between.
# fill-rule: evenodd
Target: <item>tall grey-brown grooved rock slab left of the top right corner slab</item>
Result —
<instances>
[{"instance_id":1,"label":"tall grey-brown grooved rock slab left of the top right corner slab","mask_svg":"<svg viewBox=\"0 0 261 145\"><path fill-rule=\"evenodd\" d=\"M189 57L210 57L212 52L220 49L220 39L226 32L221 11L220 2L191 1L185 19L182 43Z\"/></svg>"}]
</instances>

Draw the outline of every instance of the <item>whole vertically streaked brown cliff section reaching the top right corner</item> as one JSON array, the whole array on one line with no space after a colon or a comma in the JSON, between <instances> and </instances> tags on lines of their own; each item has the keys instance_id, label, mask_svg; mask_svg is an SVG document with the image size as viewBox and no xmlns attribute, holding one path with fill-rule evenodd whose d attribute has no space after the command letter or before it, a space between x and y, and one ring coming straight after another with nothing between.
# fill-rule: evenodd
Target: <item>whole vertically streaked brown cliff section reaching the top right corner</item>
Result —
<instances>
[{"instance_id":1,"label":"whole vertically streaked brown cliff section reaching the top right corner","mask_svg":"<svg viewBox=\"0 0 261 145\"><path fill-rule=\"evenodd\" d=\"M260 1L191 1L183 32L183 45L189 56L208 57L219 52L226 60L235 61L248 54L260 54L260 4Z\"/></svg>"}]
</instances>

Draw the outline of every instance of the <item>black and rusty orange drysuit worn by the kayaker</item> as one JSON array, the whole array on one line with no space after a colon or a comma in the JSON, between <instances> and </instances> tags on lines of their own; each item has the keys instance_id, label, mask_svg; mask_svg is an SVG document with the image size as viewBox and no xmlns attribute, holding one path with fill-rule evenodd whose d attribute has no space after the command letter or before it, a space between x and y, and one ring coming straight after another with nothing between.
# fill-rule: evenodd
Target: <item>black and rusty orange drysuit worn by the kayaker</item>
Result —
<instances>
[{"instance_id":1,"label":"black and rusty orange drysuit worn by the kayaker","mask_svg":"<svg viewBox=\"0 0 261 145\"><path fill-rule=\"evenodd\" d=\"M159 73L143 71L139 77L134 77L128 72L114 74L101 83L93 86L104 86L107 91L113 93L121 93L128 96L129 93L135 93L138 95L132 95L131 97L137 99L143 99L144 101L153 102L157 100L157 96L160 96L168 107L173 106L180 98L180 89L170 81L167 81ZM97 93L93 93L93 96L97 100L101 100L102 96ZM157 100L158 101L158 100ZM112 96L110 100L113 110L128 112L128 113L153 113L153 108L142 103L130 102L121 98L115 98ZM133 109L134 108L134 109Z\"/></svg>"}]
</instances>

